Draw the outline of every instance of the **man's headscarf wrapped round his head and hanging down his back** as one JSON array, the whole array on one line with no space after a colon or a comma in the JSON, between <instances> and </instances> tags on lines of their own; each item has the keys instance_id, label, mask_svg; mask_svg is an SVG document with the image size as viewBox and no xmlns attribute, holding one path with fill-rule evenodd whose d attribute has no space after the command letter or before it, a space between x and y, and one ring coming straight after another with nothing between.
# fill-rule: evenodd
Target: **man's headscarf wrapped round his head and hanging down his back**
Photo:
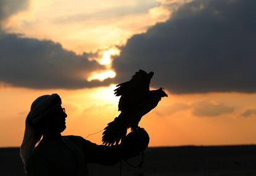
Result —
<instances>
[{"instance_id":1,"label":"man's headscarf wrapped round his head and hanging down his back","mask_svg":"<svg viewBox=\"0 0 256 176\"><path fill-rule=\"evenodd\" d=\"M23 136L22 145L20 146L20 157L24 167L27 167L28 159L33 153L36 143L38 143L43 135L36 130L34 125L40 123L40 120L45 118L48 112L61 104L61 98L58 94L46 94L40 96L33 101L30 112L25 120L25 133Z\"/></svg>"}]
</instances>

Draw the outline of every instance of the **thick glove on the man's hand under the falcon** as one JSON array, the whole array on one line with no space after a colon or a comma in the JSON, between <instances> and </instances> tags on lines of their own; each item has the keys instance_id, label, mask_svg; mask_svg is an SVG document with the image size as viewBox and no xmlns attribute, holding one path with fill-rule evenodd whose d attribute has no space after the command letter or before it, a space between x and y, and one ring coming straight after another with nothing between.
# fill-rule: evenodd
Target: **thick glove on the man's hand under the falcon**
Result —
<instances>
[{"instance_id":1,"label":"thick glove on the man's hand under the falcon","mask_svg":"<svg viewBox=\"0 0 256 176\"><path fill-rule=\"evenodd\" d=\"M143 128L138 128L130 132L121 141L121 146L124 148L125 152L124 159L138 156L148 147L149 140L148 133Z\"/></svg>"}]
</instances>

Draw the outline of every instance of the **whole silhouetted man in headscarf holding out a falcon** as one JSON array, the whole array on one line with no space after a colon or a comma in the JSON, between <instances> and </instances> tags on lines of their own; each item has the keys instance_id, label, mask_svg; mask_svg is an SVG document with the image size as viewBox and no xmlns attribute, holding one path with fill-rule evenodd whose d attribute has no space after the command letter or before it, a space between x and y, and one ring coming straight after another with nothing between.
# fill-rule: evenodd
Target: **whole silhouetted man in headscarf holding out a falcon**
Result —
<instances>
[{"instance_id":1,"label":"whole silhouetted man in headscarf holding out a falcon","mask_svg":"<svg viewBox=\"0 0 256 176\"><path fill-rule=\"evenodd\" d=\"M148 146L149 137L143 131L140 135L128 135L115 146L96 145L82 136L62 136L66 118L58 94L46 94L33 101L20 146L28 176L85 176L88 175L87 163L113 165L139 155Z\"/></svg>"}]
</instances>

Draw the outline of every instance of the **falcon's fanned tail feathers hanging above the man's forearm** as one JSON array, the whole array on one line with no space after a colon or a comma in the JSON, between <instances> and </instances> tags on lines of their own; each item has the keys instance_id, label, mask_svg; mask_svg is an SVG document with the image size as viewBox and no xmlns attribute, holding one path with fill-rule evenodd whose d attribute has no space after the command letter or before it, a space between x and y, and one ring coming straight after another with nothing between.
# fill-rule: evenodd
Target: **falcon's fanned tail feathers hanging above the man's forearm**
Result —
<instances>
[{"instance_id":1,"label":"falcon's fanned tail feathers hanging above the man's forearm","mask_svg":"<svg viewBox=\"0 0 256 176\"><path fill-rule=\"evenodd\" d=\"M120 116L120 115L119 115ZM104 128L102 142L104 145L117 145L127 133L127 126L124 118L116 117Z\"/></svg>"}]
</instances>

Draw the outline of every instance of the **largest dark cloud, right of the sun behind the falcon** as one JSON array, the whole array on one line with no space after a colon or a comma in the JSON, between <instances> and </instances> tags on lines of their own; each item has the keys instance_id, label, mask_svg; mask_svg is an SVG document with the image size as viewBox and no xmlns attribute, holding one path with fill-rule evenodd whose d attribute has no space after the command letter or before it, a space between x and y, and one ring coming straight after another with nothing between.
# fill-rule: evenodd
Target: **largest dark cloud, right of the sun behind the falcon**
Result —
<instances>
[{"instance_id":1,"label":"largest dark cloud, right of the sun behind the falcon","mask_svg":"<svg viewBox=\"0 0 256 176\"><path fill-rule=\"evenodd\" d=\"M193 1L134 35L113 67L116 82L154 71L152 85L172 93L256 91L256 1Z\"/></svg>"}]
</instances>

